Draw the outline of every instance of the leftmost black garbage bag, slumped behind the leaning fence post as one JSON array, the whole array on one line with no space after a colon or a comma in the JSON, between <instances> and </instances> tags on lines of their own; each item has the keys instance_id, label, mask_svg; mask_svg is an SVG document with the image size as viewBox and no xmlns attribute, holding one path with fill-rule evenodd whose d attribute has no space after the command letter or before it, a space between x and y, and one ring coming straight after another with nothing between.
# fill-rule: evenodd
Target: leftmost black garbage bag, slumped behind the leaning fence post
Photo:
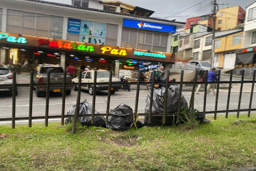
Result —
<instances>
[{"instance_id":1,"label":"leftmost black garbage bag, slumped behind the leaning fence post","mask_svg":"<svg viewBox=\"0 0 256 171\"><path fill-rule=\"evenodd\" d=\"M75 107L76 105L73 105L73 107L71 107L71 109L68 111L68 115L75 115ZM86 100L83 101L82 103L80 103L80 107L79 107L79 114L80 115L86 115L86 114L92 114L92 105L90 105L90 103L88 103ZM94 111L94 114L99 114L98 111ZM92 126L91 124L91 120L92 117L91 116L81 116L79 117L79 122L83 125L83 126ZM67 118L65 120L66 123L71 123L72 120L71 118ZM106 127L105 124L105 118L103 116L94 116L94 126L95 127Z\"/></svg>"}]
</instances>

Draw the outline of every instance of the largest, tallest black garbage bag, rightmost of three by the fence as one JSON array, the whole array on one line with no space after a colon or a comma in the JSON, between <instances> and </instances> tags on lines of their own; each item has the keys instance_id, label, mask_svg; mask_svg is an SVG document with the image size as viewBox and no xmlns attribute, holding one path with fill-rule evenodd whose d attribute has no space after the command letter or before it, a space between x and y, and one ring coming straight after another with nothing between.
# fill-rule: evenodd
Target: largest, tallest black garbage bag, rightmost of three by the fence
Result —
<instances>
[{"instance_id":1,"label":"largest, tallest black garbage bag, rightmost of three by the fence","mask_svg":"<svg viewBox=\"0 0 256 171\"><path fill-rule=\"evenodd\" d=\"M178 111L178 101L179 101L179 86L170 86L167 95L167 105L166 112L175 113ZM164 93L166 88L159 88L153 92L153 105L152 105L152 114L161 114L164 112ZM150 104L150 95L146 97L146 106L145 113L149 114L149 104ZM188 110L188 102L185 100L185 97L181 94L181 109L180 111ZM166 117L166 124L176 123L176 118L174 116ZM183 118L185 119L185 118ZM144 124L148 124L148 117L144 118ZM153 116L151 118L151 125L161 125L162 116Z\"/></svg>"}]
</instances>

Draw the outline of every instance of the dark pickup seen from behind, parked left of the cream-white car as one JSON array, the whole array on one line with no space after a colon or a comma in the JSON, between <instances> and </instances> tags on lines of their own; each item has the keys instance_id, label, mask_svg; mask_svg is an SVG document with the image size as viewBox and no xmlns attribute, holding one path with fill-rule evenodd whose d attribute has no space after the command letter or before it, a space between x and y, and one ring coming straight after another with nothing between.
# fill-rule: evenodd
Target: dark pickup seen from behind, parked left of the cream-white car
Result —
<instances>
[{"instance_id":1,"label":"dark pickup seen from behind, parked left of the cream-white car","mask_svg":"<svg viewBox=\"0 0 256 171\"><path fill-rule=\"evenodd\" d=\"M47 71L50 71L50 83L63 83L64 79L64 69L59 65L52 64L40 64L36 68L36 75L34 78L34 83L42 84L47 83ZM72 83L71 76L66 76L66 83ZM66 95L71 94L72 86L66 86ZM36 96L45 96L47 92L47 86L35 86ZM63 86L50 86L50 92L63 92Z\"/></svg>"}]
</instances>

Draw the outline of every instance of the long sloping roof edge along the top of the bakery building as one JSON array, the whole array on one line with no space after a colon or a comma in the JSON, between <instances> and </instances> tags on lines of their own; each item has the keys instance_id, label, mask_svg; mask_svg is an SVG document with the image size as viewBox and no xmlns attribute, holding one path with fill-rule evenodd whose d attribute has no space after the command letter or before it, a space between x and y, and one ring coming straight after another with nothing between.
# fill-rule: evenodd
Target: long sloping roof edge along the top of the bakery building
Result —
<instances>
[{"instance_id":1,"label":"long sloping roof edge along the top of the bakery building","mask_svg":"<svg viewBox=\"0 0 256 171\"><path fill-rule=\"evenodd\" d=\"M79 9L79 10L88 10L88 11L94 11L94 12L116 14L116 15L120 15L120 16L131 16L131 17L135 17L135 18L144 18L144 19L149 19L149 20L154 20L154 21L164 21L164 22L167 22L167 23L177 23L177 24L185 25L184 22L178 22L178 21L175 21L175 20L169 21L169 20L160 19L160 18L153 18L153 17L149 17L149 16L138 16L138 15L134 15L134 14L125 14L125 13L120 13L120 12L110 12L110 11L99 10L99 9L94 9L94 8L77 7L75 5L68 5L68 4L64 4L64 3L55 3L55 2L42 1L42 0L23 0L23 1L30 1L30 2L34 2L34 3L44 3L44 4L47 4L47 5L62 6L64 8L74 8L74 9Z\"/></svg>"}]
</instances>

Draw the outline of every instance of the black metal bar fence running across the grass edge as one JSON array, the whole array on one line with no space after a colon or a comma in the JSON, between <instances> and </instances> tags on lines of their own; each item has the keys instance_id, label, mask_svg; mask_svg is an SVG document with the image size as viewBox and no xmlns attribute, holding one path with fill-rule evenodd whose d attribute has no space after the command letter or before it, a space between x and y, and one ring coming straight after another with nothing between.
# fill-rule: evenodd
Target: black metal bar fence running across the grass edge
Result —
<instances>
[{"instance_id":1,"label":"black metal bar fence running across the grass edge","mask_svg":"<svg viewBox=\"0 0 256 171\"><path fill-rule=\"evenodd\" d=\"M230 73L230 79L229 81L220 81L221 77L221 72L220 70L218 71L218 81L217 82L208 82L207 81L207 75L208 71L206 70L205 73L205 82L197 82L197 75L198 73L196 72L194 75L194 81L193 82L185 82L183 81L183 76L184 76L184 71L181 71L181 78L179 82L170 82L168 79L166 79L165 83L155 81L151 82L141 82L140 80L140 73L138 74L138 81L136 83L116 83L112 82L112 71L110 72L110 81L108 82L108 94L107 94L107 107L106 107L106 112L105 114L95 114L95 103L96 103L96 87L98 85L106 85L106 83L97 83L97 71L94 71L94 83L81 83L81 71L79 72L79 82L78 83L66 83L66 71L64 72L64 81L63 83L50 83L50 73L47 73L47 83L34 83L34 73L30 73L30 83L25 84L25 83L16 83L16 73L13 73L13 83L12 85L12 118L0 118L0 121L10 121L12 120L12 129L15 128L15 121L16 120L29 120L29 127L32 127L32 120L37 120L37 119L44 119L44 125L45 127L48 127L48 122L49 119L51 118L61 118L61 124L64 125L64 119L68 117L73 117L70 115L65 115L65 101L66 101L66 93L62 93L62 115L57 115L57 116L49 116L49 92L50 92L50 86L63 86L63 92L66 92L66 86L77 86L78 87L78 92L77 92L77 103L76 106L79 106L80 103L80 98L81 98L81 86L92 86L93 87L93 98L92 98L92 114L88 115L81 115L79 114L79 107L76 107L75 110L75 116L74 116L74 122L77 123L77 120L79 119L80 116L91 116L91 124L94 124L94 116L105 116L106 117L106 123L108 122L108 117L110 116L110 100L111 100L111 87L114 84L118 85L137 85L136 88L136 101L135 101L135 110L134 110L134 118L137 116L148 116L148 122L149 124L151 123L151 118L153 116L162 116L162 123L166 124L166 117L167 116L175 116L177 117L177 122L179 122L181 118L181 94L183 91L183 84L192 84L192 92L191 92L191 97L190 97L190 106L189 106L189 114L190 114L190 124L193 124L193 115L194 115L194 94L196 90L196 84L203 84L205 85L204 93L207 94L207 85L208 84L217 84L217 90L216 90L216 101L215 101L215 109L214 111L206 111L206 100L207 96L204 96L204 101L203 101L203 111L196 112L196 114L203 114L203 118L205 118L206 114L214 114L214 119L217 118L218 113L226 113L226 118L229 116L229 112L237 112L237 117L239 118L240 112L241 111L248 111L248 117L251 116L251 111L256 111L256 108L252 108L252 102L253 102L253 91L254 91L254 86L255 86L255 74L256 70L254 70L253 73L253 80L252 81L244 81L244 70L242 71L242 78L241 81L233 81L233 70L231 70ZM169 78L169 74L167 73L166 77ZM153 72L153 78L155 77L155 71ZM149 114L138 114L138 100L140 97L140 86L141 85L148 85L151 83L151 92L150 92L150 103L149 103ZM177 106L177 113L175 114L169 114L166 112L166 106L167 106L167 96L168 96L168 91L165 91L164 94L164 112L162 114L152 114L152 106L153 106L153 90L155 84L164 84L166 88L168 88L170 85L179 85L179 101L178 101L178 106ZM226 110L218 110L218 97L219 97L219 90L220 90L220 84L225 83L229 84L229 92L227 94L227 109ZM239 95L239 101L238 101L238 109L229 109L229 102L230 102L230 95L231 95L231 86L233 83L239 83L240 84L240 95ZM242 90L244 83L251 83L251 96L250 96L250 102L248 105L248 108L246 109L240 109L241 106L241 100L242 100ZM7 85L0 85L1 87L6 87ZM16 88L18 87L29 87L29 116L28 117L16 117ZM46 92L46 105L45 105L45 116L33 116L32 114L32 108L33 108L33 90L34 86L46 86L47 87L47 92ZM76 124L73 124L73 133L76 131Z\"/></svg>"}]
</instances>

